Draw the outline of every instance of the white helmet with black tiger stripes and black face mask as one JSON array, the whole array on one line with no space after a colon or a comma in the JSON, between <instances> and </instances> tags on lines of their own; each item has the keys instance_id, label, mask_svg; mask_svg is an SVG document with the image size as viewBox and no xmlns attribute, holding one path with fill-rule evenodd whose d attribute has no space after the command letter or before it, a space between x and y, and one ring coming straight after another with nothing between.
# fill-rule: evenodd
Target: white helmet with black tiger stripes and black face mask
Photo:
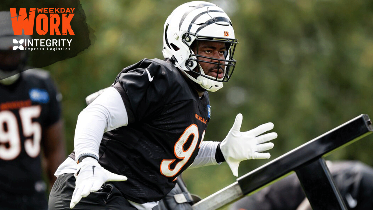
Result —
<instances>
[{"instance_id":1,"label":"white helmet with black tiger stripes and black face mask","mask_svg":"<svg viewBox=\"0 0 373 210\"><path fill-rule=\"evenodd\" d=\"M199 58L209 57L200 56L198 52L192 51L192 43L196 42L198 46L198 41L225 43L227 49L225 59L213 58L218 63L201 61ZM223 82L231 78L236 65L233 53L237 43L228 15L216 4L206 1L191 1L180 5L164 23L162 51L164 58L169 58L177 68L185 72L187 77L211 92L222 88ZM223 78L204 74L199 62L222 65ZM188 71L194 73L188 74Z\"/></svg>"}]
</instances>

